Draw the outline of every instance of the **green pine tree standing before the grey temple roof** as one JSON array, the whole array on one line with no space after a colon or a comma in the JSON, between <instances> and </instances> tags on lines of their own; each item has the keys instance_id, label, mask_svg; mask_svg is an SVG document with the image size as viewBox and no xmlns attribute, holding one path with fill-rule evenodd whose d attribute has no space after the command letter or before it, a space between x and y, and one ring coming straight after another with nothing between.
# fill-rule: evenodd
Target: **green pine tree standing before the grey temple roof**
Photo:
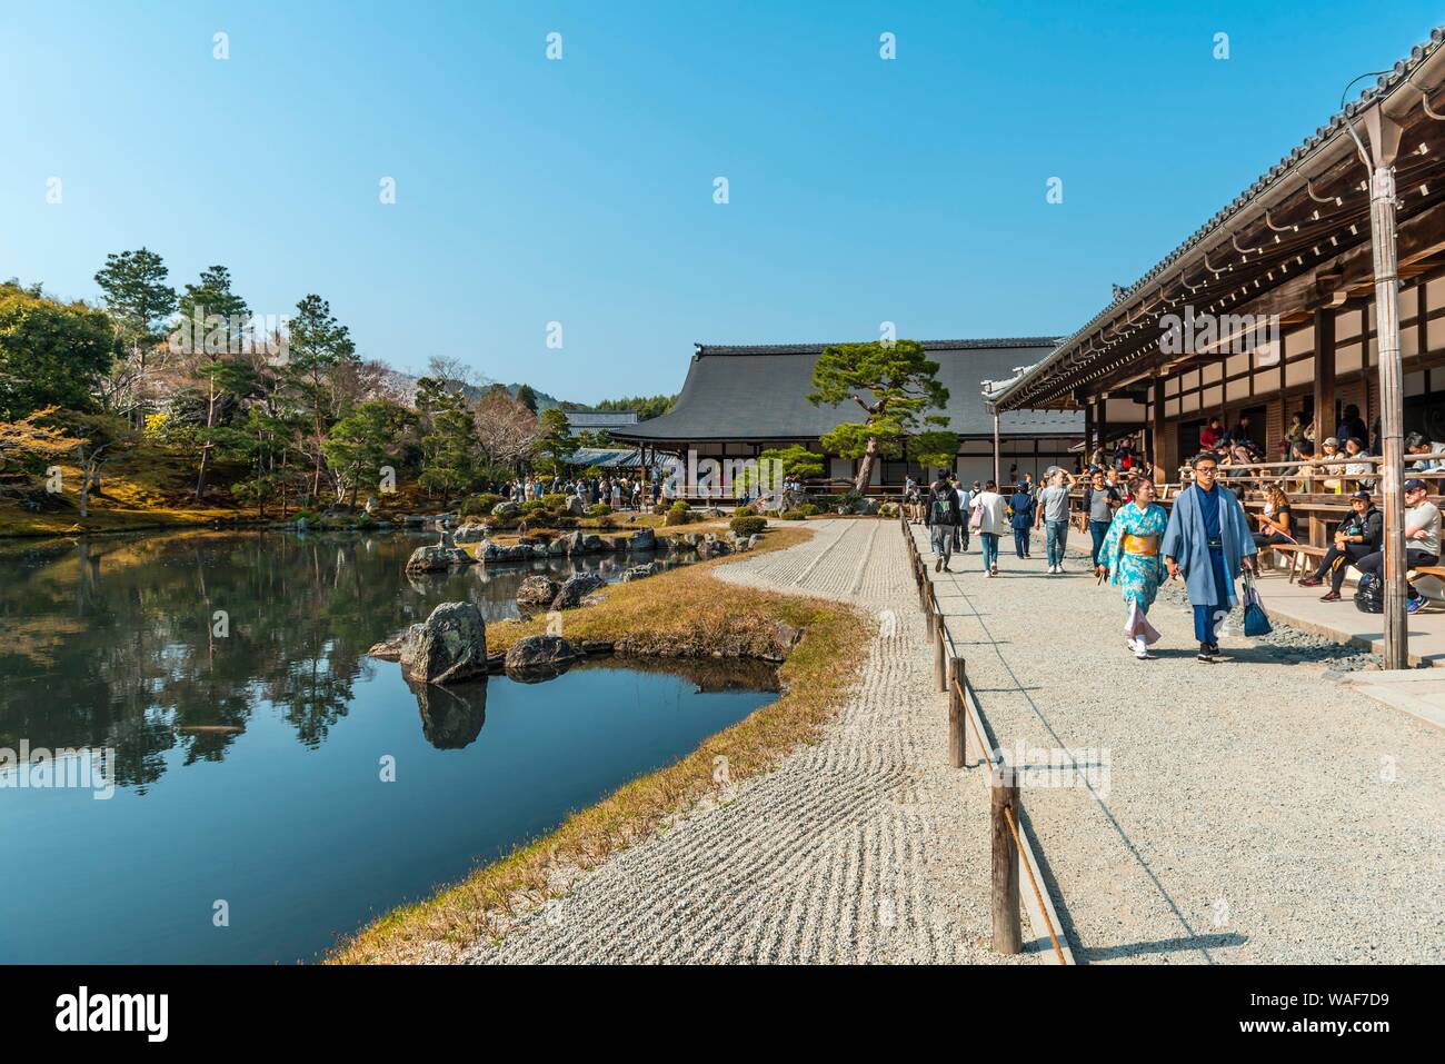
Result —
<instances>
[{"instance_id":1,"label":"green pine tree standing before the grey temple roof","mask_svg":"<svg viewBox=\"0 0 1445 1064\"><path fill-rule=\"evenodd\" d=\"M860 494L874 463L900 455L909 437L916 437L918 447L931 458L946 451L942 464L951 464L958 452L958 438L941 428L948 418L925 413L944 409L948 389L938 382L938 363L925 357L923 344L916 340L829 344L814 366L814 389L808 396L811 403L838 406L851 399L866 415L863 424L838 425L821 441L844 458L863 460L853 481Z\"/></svg>"}]
</instances>

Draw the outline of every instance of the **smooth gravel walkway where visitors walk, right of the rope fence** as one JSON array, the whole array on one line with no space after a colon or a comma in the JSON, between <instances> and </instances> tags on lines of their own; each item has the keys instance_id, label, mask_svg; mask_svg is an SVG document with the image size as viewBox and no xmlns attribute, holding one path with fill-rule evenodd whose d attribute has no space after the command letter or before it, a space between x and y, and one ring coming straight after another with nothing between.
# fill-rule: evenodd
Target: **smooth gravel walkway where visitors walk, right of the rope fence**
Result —
<instances>
[{"instance_id":1,"label":"smooth gravel walkway where visitors walk, right of the rope fence","mask_svg":"<svg viewBox=\"0 0 1445 1064\"><path fill-rule=\"evenodd\" d=\"M1445 733L1335 682L1370 655L1227 630L1199 664L1168 593L1159 656L1134 661L1087 557L1049 575L1042 536L1032 561L1012 546L988 580L975 542L938 591L1006 758L1100 766L1020 785L1078 960L1445 960Z\"/></svg>"}]
</instances>

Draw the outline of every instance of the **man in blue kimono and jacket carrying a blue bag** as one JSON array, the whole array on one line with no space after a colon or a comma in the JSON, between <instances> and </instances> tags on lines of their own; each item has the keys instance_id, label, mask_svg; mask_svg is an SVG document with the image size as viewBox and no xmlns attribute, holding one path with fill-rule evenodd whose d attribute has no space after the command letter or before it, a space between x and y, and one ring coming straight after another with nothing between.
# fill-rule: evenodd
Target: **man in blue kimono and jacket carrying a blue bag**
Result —
<instances>
[{"instance_id":1,"label":"man in blue kimono and jacket carrying a blue bag","mask_svg":"<svg viewBox=\"0 0 1445 1064\"><path fill-rule=\"evenodd\" d=\"M1159 551L1170 580L1183 574L1199 661L1212 662L1220 653L1215 626L1238 603L1234 581L1240 570L1254 568L1257 548L1240 500L1215 480L1215 455L1205 451L1189 464L1194 483L1175 499Z\"/></svg>"}]
</instances>

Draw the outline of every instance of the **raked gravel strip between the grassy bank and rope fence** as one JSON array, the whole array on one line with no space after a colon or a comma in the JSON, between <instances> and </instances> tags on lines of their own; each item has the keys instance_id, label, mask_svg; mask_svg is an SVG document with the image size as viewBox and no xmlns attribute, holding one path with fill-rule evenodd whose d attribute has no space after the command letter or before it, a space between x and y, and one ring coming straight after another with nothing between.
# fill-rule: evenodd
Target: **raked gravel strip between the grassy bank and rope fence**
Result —
<instances>
[{"instance_id":1,"label":"raked gravel strip between the grassy bank and rope fence","mask_svg":"<svg viewBox=\"0 0 1445 1064\"><path fill-rule=\"evenodd\" d=\"M809 528L809 542L717 575L880 617L863 684L822 740L613 856L467 960L1026 963L1048 948L988 951L987 794L946 765L946 707L897 526Z\"/></svg>"}]
</instances>

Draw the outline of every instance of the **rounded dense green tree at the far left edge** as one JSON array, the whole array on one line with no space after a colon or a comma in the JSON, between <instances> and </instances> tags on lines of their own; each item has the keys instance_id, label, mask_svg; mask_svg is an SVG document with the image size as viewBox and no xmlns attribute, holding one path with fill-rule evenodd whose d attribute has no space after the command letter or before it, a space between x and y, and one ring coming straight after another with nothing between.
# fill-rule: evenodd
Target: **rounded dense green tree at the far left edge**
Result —
<instances>
[{"instance_id":1,"label":"rounded dense green tree at the far left edge","mask_svg":"<svg viewBox=\"0 0 1445 1064\"><path fill-rule=\"evenodd\" d=\"M0 419L43 406L95 409L94 392L110 370L110 321L85 304L59 304L39 286L0 285Z\"/></svg>"}]
</instances>

